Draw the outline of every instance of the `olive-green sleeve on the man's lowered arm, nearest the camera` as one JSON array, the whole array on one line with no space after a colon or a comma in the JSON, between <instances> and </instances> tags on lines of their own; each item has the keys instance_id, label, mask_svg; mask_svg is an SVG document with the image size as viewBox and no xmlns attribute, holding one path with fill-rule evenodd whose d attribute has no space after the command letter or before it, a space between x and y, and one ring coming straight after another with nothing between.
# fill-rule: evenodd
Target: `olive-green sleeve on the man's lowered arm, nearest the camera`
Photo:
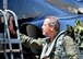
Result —
<instances>
[{"instance_id":1,"label":"olive-green sleeve on the man's lowered arm, nearest the camera","mask_svg":"<svg viewBox=\"0 0 83 59\"><path fill-rule=\"evenodd\" d=\"M64 36L64 48L68 59L79 59L76 45L70 36Z\"/></svg>"}]
</instances>

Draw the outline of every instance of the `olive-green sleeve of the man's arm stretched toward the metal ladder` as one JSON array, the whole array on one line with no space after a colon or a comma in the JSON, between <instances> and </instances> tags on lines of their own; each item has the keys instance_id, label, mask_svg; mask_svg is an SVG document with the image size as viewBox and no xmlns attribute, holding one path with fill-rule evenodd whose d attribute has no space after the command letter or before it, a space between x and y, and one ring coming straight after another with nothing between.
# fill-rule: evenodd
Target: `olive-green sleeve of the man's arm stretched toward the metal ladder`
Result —
<instances>
[{"instance_id":1,"label":"olive-green sleeve of the man's arm stretched toward the metal ladder","mask_svg":"<svg viewBox=\"0 0 83 59\"><path fill-rule=\"evenodd\" d=\"M21 43L25 47L29 47L33 44L39 46L39 45L43 45L45 43L45 40L43 40L43 38L35 39L33 37L28 37L28 36L24 35L24 34L21 34L21 33L20 33L20 36L21 36Z\"/></svg>"}]
</instances>

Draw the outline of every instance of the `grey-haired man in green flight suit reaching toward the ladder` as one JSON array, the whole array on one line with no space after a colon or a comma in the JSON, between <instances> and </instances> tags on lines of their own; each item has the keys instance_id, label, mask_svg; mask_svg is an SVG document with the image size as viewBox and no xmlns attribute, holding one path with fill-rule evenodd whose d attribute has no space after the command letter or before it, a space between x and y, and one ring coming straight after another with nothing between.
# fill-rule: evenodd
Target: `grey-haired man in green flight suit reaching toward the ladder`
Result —
<instances>
[{"instance_id":1,"label":"grey-haired man in green flight suit reaching toward the ladder","mask_svg":"<svg viewBox=\"0 0 83 59\"><path fill-rule=\"evenodd\" d=\"M48 38L45 40L46 43L42 44L43 51L40 59L79 59L73 39L64 35L64 32L59 33L60 23L57 17L47 16L42 28L43 35ZM39 39L43 40L42 38ZM21 40L23 44L31 45L34 38L21 34Z\"/></svg>"}]
</instances>

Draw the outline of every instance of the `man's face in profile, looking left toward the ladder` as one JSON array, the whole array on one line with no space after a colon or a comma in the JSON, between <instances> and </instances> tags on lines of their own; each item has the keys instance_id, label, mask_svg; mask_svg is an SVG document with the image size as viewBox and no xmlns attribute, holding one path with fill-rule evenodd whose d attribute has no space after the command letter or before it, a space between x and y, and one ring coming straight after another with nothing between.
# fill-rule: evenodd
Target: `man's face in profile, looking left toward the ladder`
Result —
<instances>
[{"instance_id":1,"label":"man's face in profile, looking left toward the ladder","mask_svg":"<svg viewBox=\"0 0 83 59\"><path fill-rule=\"evenodd\" d=\"M44 24L42 26L43 28L43 35L48 36L50 33L50 26L48 25L49 19L45 19Z\"/></svg>"}]
</instances>

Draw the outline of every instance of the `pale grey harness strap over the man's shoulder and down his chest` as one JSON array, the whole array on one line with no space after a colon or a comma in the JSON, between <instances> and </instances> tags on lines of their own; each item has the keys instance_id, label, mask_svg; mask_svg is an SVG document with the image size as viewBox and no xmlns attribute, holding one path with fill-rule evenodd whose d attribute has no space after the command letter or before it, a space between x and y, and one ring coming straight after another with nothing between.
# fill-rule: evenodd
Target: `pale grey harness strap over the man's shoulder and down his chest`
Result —
<instances>
[{"instance_id":1,"label":"pale grey harness strap over the man's shoulder and down his chest","mask_svg":"<svg viewBox=\"0 0 83 59\"><path fill-rule=\"evenodd\" d=\"M48 56L50 55L50 52L51 52L52 49L54 49L55 43L57 42L58 37L59 37L61 34L63 34L63 33L64 33L64 31L60 32L60 33L55 37L55 39L52 40L52 43L51 43L51 45L48 47L48 49L47 49L47 43L46 43L46 45L43 47L43 51L42 51L42 55L40 55L40 59L43 59L44 57L48 57ZM46 49L47 49L47 51L46 51ZM45 51L46 51L46 52L45 52Z\"/></svg>"}]
</instances>

